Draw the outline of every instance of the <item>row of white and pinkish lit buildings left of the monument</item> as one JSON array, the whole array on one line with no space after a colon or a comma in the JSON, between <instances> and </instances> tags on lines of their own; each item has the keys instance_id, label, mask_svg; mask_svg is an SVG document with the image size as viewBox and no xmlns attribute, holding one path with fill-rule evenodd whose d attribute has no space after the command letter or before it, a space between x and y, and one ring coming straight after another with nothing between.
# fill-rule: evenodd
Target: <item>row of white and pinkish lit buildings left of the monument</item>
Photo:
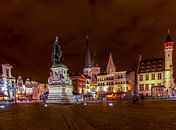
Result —
<instances>
[{"instance_id":1,"label":"row of white and pinkish lit buildings left of the monument","mask_svg":"<svg viewBox=\"0 0 176 130\"><path fill-rule=\"evenodd\" d=\"M31 81L29 78L23 79L21 76L15 78L12 76L12 66L2 64L2 75L0 78L0 100L12 100L16 102L26 100L39 100L40 83ZM45 89L46 86L44 87Z\"/></svg>"}]
</instances>

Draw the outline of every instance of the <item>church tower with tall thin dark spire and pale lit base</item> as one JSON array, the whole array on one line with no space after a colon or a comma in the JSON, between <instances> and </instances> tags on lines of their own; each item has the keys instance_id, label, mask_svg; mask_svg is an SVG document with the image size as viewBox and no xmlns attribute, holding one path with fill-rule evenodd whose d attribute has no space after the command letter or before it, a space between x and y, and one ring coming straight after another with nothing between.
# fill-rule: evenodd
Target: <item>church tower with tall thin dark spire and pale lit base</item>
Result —
<instances>
[{"instance_id":1,"label":"church tower with tall thin dark spire and pale lit base","mask_svg":"<svg viewBox=\"0 0 176 130\"><path fill-rule=\"evenodd\" d=\"M84 65L84 69L83 69L83 74L91 77L91 75L92 75L91 68L92 68L92 62L91 62L88 35L87 35L86 36L86 60L85 60L85 65Z\"/></svg>"}]
</instances>

